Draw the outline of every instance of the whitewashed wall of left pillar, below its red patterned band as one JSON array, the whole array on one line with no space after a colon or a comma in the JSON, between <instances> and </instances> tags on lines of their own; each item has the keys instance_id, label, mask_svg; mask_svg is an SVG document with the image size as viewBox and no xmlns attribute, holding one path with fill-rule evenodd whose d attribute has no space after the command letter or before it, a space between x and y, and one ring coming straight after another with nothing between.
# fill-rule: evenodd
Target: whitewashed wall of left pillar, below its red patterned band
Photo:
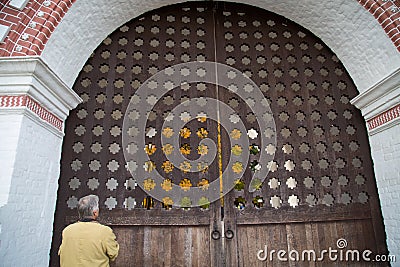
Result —
<instances>
[{"instance_id":1,"label":"whitewashed wall of left pillar, below its red patterned band","mask_svg":"<svg viewBox=\"0 0 400 267\"><path fill-rule=\"evenodd\" d=\"M14 155L0 178L1 188L5 181L8 189L0 207L0 265L47 266L62 136L49 131L32 112L21 112L0 113L0 158Z\"/></svg>"}]
</instances>

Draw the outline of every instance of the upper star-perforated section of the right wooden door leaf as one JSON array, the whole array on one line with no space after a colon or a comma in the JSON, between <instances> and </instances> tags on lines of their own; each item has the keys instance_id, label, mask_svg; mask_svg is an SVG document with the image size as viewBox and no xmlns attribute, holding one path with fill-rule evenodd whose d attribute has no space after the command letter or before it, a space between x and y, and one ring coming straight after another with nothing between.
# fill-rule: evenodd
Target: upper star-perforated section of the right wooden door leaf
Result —
<instances>
[{"instance_id":1,"label":"upper star-perforated section of the right wooden door leaf","mask_svg":"<svg viewBox=\"0 0 400 267\"><path fill-rule=\"evenodd\" d=\"M276 215L276 210L282 221L314 219L306 215L307 208L322 214L370 213L376 190L368 138L359 110L349 102L357 90L340 61L310 32L285 18L252 8L238 10L233 4L217 10L217 60L251 77L259 88L248 90L262 92L276 125L276 132L270 133L276 143L262 143L266 133L257 125L268 118L249 114L249 103L261 105L262 99L239 99L237 114L247 130L258 131L250 141L274 158L261 165L269 169L267 177L257 177L257 170L246 166L244 188L234 193L246 201L238 217L249 213L244 220L271 221L268 215ZM226 49L230 45L234 53ZM221 100L229 103L233 97L235 93L220 90ZM250 163L261 162L259 155L250 155ZM253 175L265 182L250 193ZM260 208L252 204L257 195L263 197Z\"/></svg>"}]
</instances>

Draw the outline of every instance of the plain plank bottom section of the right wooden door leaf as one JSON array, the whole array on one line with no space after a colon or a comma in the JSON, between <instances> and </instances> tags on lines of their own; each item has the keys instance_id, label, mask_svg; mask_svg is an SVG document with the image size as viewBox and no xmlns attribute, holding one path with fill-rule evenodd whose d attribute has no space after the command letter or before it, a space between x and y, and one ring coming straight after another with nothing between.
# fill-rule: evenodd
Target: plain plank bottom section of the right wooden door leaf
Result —
<instances>
[{"instance_id":1,"label":"plain plank bottom section of the right wooden door leaf","mask_svg":"<svg viewBox=\"0 0 400 267\"><path fill-rule=\"evenodd\" d=\"M361 234L368 229L372 230L370 220L238 225L238 242L241 244L238 250L239 266L385 266L385 263L371 265L371 262L361 259L362 251L377 249L374 240L365 238L365 235ZM338 248L338 239L345 239L347 246L343 249ZM266 247L268 256L265 260L260 260L257 253L259 250L266 251ZM337 251L332 254L332 257L337 255L336 261L329 260L328 254L324 254L321 258L321 251L324 249L328 251L329 247ZM272 250L274 252L271 254ZM287 261L278 259L279 250L286 252L282 257ZM289 252L293 250L299 253L298 261L289 260ZM307 253L304 254L306 260L302 260L303 251L311 250L316 253L316 260L308 261ZM340 261L341 250L343 251L342 261ZM352 256L348 255L349 261L346 261L347 250L358 250L360 260L351 261ZM297 257L296 252L292 252L291 255L293 258ZM265 257L265 253L261 253L260 257Z\"/></svg>"}]
</instances>

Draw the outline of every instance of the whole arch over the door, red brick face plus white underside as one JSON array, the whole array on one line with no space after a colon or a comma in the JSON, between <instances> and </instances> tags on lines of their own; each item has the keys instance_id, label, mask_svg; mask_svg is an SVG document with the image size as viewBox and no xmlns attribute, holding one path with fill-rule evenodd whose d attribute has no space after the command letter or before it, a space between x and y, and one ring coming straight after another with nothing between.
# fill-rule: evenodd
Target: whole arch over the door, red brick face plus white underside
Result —
<instances>
[{"instance_id":1,"label":"whole arch over the door, red brick face plus white underside","mask_svg":"<svg viewBox=\"0 0 400 267\"><path fill-rule=\"evenodd\" d=\"M107 34L144 12L182 2L30 0L25 7L18 10L10 6L12 1L7 0L0 4L0 24L10 28L5 43L0 44L0 56L41 55L70 86L91 51ZM279 3L273 0L235 2L278 13L312 31L338 55L360 91L377 83L400 64L397 51L400 45L393 46L393 43L398 44L400 40L397 39L400 29L396 21L398 8L393 9L395 0L329 1L313 4L301 1L293 3L289 0ZM364 8L377 20L366 13ZM61 19L63 23L60 23ZM391 40L382 31L382 27ZM368 69L368 75L365 75L365 68Z\"/></svg>"}]
</instances>

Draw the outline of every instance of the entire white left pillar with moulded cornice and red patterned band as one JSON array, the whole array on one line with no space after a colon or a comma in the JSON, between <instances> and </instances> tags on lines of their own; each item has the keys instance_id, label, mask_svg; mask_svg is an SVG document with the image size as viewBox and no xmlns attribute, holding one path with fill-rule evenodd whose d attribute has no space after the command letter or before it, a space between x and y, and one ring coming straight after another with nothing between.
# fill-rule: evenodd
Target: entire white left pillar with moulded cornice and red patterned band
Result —
<instances>
[{"instance_id":1,"label":"entire white left pillar with moulded cornice and red patterned band","mask_svg":"<svg viewBox=\"0 0 400 267\"><path fill-rule=\"evenodd\" d=\"M48 266L62 126L80 101L41 59L0 59L0 266Z\"/></svg>"}]
</instances>

